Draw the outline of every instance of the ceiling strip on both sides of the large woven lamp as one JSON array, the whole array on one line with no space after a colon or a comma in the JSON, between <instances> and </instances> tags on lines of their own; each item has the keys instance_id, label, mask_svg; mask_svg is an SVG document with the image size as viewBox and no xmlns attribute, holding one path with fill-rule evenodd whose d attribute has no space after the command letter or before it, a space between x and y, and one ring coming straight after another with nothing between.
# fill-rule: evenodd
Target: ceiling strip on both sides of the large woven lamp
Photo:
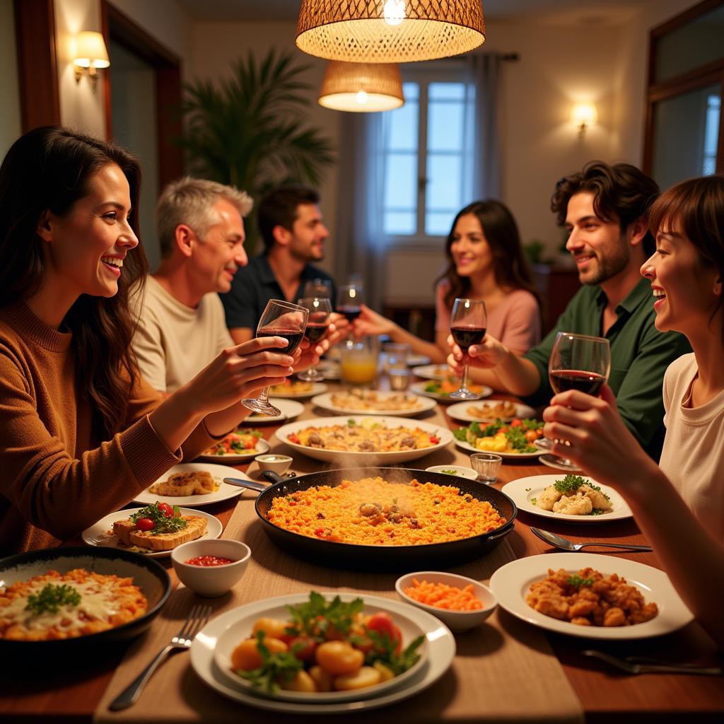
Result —
<instances>
[{"instance_id":1,"label":"ceiling strip on both sides of the large woven lamp","mask_svg":"<svg viewBox=\"0 0 724 724\"><path fill-rule=\"evenodd\" d=\"M483 0L487 20L618 24L656 0ZM195 22L294 22L300 0L176 0Z\"/></svg>"}]
</instances>

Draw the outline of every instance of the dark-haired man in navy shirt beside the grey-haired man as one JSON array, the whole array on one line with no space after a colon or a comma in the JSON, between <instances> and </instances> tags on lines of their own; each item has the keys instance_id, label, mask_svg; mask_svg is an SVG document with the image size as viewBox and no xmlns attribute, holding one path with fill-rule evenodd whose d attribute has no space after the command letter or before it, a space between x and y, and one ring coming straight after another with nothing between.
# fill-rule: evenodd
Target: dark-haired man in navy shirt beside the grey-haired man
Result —
<instances>
[{"instance_id":1,"label":"dark-haired man in navy shirt beside the grey-haired man","mask_svg":"<svg viewBox=\"0 0 724 724\"><path fill-rule=\"evenodd\" d=\"M227 327L237 345L256 335L270 299L296 302L306 282L328 280L334 303L332 277L312 264L324 258L329 237L319 194L308 188L277 188L262 199L257 213L264 253L249 259L235 274L230 292L221 295Z\"/></svg>"}]
</instances>

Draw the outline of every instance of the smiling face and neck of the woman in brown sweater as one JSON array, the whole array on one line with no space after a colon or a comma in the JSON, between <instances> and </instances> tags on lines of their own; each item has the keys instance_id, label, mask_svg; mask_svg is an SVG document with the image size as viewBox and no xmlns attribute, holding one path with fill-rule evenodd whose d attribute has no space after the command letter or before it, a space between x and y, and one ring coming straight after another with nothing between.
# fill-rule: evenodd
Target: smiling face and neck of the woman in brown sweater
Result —
<instances>
[{"instance_id":1,"label":"smiling face and neck of the woman in brown sweater","mask_svg":"<svg viewBox=\"0 0 724 724\"><path fill-rule=\"evenodd\" d=\"M46 245L46 283L70 298L112 297L126 254L138 239L129 224L130 188L113 163L90 177L88 193L63 216L46 213L38 235Z\"/></svg>"}]
</instances>

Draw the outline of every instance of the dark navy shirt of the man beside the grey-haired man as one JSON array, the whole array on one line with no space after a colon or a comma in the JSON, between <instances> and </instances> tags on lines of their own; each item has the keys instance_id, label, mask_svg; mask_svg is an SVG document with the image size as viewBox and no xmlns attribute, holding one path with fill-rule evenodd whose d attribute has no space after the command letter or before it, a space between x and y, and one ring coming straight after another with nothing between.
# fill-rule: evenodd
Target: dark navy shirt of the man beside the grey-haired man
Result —
<instances>
[{"instance_id":1,"label":"dark navy shirt of the man beside the grey-haired man","mask_svg":"<svg viewBox=\"0 0 724 724\"><path fill-rule=\"evenodd\" d=\"M329 279L332 282L332 277L326 271L307 264L302 270L298 290L294 297L287 301L296 302L301 297L306 282L312 282L314 279ZM334 305L334 295L334 282L332 282L332 305ZM252 332L256 332L256 325L261 319L266 303L270 299L285 298L282 287L279 286L277 277L269 266L266 254L249 259L249 263L234 274L231 290L219 296L224 304L227 327L229 329L248 327Z\"/></svg>"}]
</instances>

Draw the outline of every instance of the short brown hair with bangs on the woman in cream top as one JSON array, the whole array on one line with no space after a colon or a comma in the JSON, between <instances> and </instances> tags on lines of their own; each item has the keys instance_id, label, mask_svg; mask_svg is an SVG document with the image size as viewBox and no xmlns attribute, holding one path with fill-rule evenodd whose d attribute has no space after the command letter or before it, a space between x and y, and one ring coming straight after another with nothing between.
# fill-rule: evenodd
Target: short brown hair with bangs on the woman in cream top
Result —
<instances>
[{"instance_id":1,"label":"short brown hair with bangs on the woman in cream top","mask_svg":"<svg viewBox=\"0 0 724 724\"><path fill-rule=\"evenodd\" d=\"M672 186L652 203L648 220L654 237L659 232L685 236L696 248L702 268L716 269L724 284L724 176L704 176ZM720 295L710 321L723 309L724 295Z\"/></svg>"}]
</instances>

